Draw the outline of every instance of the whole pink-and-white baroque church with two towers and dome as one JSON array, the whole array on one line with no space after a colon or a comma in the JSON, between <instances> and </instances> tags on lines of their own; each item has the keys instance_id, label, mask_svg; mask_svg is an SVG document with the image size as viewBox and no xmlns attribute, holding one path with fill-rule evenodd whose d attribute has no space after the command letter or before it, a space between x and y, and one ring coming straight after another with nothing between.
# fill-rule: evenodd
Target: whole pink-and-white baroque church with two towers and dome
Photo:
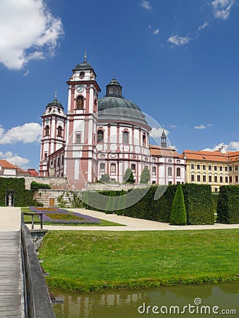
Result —
<instances>
[{"instance_id":1,"label":"whole pink-and-white baroque church with two towers and dome","mask_svg":"<svg viewBox=\"0 0 239 318\"><path fill-rule=\"evenodd\" d=\"M88 184L109 175L122 183L130 168L135 183L148 167L150 184L185 182L185 159L167 146L163 129L161 145L150 145L151 127L144 114L122 95L115 76L98 98L96 74L85 59L73 69L66 83L66 112L55 95L42 115L40 177L66 177L71 189L87 189Z\"/></svg>"}]
</instances>

